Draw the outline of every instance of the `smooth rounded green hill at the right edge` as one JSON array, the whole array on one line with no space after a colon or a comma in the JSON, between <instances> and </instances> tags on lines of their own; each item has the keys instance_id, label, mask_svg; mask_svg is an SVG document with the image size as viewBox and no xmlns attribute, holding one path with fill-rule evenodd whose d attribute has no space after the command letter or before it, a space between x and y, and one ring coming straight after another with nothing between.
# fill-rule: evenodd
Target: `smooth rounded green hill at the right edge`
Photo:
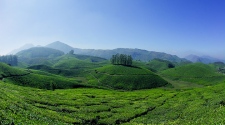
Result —
<instances>
[{"instance_id":1,"label":"smooth rounded green hill at the right edge","mask_svg":"<svg viewBox=\"0 0 225 125\"><path fill-rule=\"evenodd\" d=\"M225 80L225 76L214 68L202 63L188 64L161 72L161 75L173 79L194 82L203 85L213 85Z\"/></svg>"}]
</instances>

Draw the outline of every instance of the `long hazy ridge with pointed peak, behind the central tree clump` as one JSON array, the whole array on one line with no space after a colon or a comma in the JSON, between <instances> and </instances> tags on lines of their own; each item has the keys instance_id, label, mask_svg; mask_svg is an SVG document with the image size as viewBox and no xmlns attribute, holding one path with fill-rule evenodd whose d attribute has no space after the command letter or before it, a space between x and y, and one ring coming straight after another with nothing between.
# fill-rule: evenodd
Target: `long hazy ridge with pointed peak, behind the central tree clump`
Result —
<instances>
[{"instance_id":1,"label":"long hazy ridge with pointed peak, behind the central tree clump","mask_svg":"<svg viewBox=\"0 0 225 125\"><path fill-rule=\"evenodd\" d=\"M112 55L120 53L120 54L131 55L134 60L140 60L140 61L149 61L149 60L158 58L158 59L163 59L163 60L168 60L171 62L178 62L178 63L187 62L186 59L179 58L176 55L170 55L166 53L147 51L147 50L141 50L141 49L127 49L127 48L117 48L113 50L79 49L79 48L73 48L59 41L53 42L47 45L46 47L58 49L65 53L68 53L70 50L73 49L75 54L97 56L97 57L102 57L106 59L110 59Z\"/></svg>"}]
</instances>

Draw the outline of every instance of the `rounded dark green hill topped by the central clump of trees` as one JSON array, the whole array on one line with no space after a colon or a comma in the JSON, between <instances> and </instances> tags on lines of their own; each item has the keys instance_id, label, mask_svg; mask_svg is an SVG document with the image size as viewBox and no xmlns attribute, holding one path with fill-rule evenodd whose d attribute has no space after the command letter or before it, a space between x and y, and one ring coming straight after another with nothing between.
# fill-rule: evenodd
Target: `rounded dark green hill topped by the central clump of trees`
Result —
<instances>
[{"instance_id":1,"label":"rounded dark green hill topped by the central clump of trees","mask_svg":"<svg viewBox=\"0 0 225 125\"><path fill-rule=\"evenodd\" d=\"M90 84L124 90L149 89L168 84L148 69L122 65L97 68L87 78Z\"/></svg>"}]
</instances>

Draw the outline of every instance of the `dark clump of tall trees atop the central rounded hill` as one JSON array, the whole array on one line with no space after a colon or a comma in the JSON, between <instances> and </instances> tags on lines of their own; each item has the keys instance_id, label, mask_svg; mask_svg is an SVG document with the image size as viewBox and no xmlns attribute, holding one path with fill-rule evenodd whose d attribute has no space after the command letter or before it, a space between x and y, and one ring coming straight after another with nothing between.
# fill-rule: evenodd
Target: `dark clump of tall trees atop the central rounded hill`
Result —
<instances>
[{"instance_id":1,"label":"dark clump of tall trees atop the central rounded hill","mask_svg":"<svg viewBox=\"0 0 225 125\"><path fill-rule=\"evenodd\" d=\"M133 59L132 59L131 55L126 55L126 54L112 55L112 58L111 58L111 63L114 65L131 66L132 61L133 61Z\"/></svg>"}]
</instances>

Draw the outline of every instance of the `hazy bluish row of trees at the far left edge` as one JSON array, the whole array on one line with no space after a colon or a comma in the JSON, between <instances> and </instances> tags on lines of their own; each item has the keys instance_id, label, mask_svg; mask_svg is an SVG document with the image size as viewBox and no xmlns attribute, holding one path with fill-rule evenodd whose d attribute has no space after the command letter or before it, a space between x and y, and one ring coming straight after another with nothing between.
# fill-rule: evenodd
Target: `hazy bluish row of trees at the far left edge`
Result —
<instances>
[{"instance_id":1,"label":"hazy bluish row of trees at the far left edge","mask_svg":"<svg viewBox=\"0 0 225 125\"><path fill-rule=\"evenodd\" d=\"M0 56L0 62L4 62L12 66L17 66L18 58L16 55Z\"/></svg>"}]
</instances>

